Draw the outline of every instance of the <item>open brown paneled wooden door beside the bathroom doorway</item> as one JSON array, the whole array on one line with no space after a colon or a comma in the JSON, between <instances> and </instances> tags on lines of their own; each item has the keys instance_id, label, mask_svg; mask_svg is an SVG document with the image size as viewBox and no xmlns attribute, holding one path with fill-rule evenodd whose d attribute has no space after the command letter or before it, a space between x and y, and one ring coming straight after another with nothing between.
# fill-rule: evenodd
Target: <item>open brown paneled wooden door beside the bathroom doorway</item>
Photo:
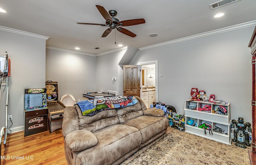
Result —
<instances>
[{"instance_id":1,"label":"open brown paneled wooden door beside the bathroom doorway","mask_svg":"<svg viewBox=\"0 0 256 165\"><path fill-rule=\"evenodd\" d=\"M124 65L124 91L123 95L136 95L140 97L140 66Z\"/></svg>"}]
</instances>

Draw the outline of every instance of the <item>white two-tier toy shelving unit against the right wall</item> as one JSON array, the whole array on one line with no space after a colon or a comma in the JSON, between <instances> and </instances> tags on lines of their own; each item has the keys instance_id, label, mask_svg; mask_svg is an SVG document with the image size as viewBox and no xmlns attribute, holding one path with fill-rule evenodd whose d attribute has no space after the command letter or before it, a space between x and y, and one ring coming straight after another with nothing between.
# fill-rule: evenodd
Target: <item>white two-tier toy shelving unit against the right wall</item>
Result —
<instances>
[{"instance_id":1,"label":"white two-tier toy shelving unit against the right wall","mask_svg":"<svg viewBox=\"0 0 256 165\"><path fill-rule=\"evenodd\" d=\"M193 106L192 106L193 105ZM200 111L198 109L204 107L205 105L211 106L210 111ZM217 108L222 105L227 110L225 114L218 114ZM189 107L190 106L190 107ZM194 109L193 109L194 108ZM186 132L192 133L194 135L198 135L201 137L205 137L207 139L211 139L214 141L218 141L224 144L231 144L230 138L230 103L222 104L222 103L212 103L206 101L191 101L188 99L185 101L185 128ZM196 125L192 126L188 124L188 120L194 119L194 123ZM208 130L206 130L206 134L204 129L199 128L203 123L210 123L212 125L212 134ZM220 128L222 131L214 131L214 129Z\"/></svg>"}]
</instances>

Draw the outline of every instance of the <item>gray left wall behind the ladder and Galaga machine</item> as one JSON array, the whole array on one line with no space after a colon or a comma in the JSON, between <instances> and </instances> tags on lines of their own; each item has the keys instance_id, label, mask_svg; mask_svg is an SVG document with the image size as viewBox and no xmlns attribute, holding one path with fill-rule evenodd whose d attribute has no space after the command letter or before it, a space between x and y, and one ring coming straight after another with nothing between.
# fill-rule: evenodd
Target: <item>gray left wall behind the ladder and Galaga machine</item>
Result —
<instances>
[{"instance_id":1,"label":"gray left wall behind the ladder and Galaga machine","mask_svg":"<svg viewBox=\"0 0 256 165\"><path fill-rule=\"evenodd\" d=\"M45 87L46 40L2 30L0 36L0 55L8 52L11 60L8 113L13 119L12 131L20 131L24 129L24 89ZM5 94L4 90L0 102L0 127L5 126Z\"/></svg>"}]
</instances>

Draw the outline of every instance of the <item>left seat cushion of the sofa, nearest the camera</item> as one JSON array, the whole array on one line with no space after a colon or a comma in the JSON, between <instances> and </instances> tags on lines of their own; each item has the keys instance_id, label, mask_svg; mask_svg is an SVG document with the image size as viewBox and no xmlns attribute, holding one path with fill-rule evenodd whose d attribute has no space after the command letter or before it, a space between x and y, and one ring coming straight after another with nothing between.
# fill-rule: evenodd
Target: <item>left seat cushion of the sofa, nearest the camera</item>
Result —
<instances>
[{"instance_id":1,"label":"left seat cushion of the sofa, nearest the camera","mask_svg":"<svg viewBox=\"0 0 256 165\"><path fill-rule=\"evenodd\" d=\"M141 144L141 133L135 127L116 124L94 132L98 139L95 147L81 151L76 162L88 165L110 165Z\"/></svg>"}]
</instances>

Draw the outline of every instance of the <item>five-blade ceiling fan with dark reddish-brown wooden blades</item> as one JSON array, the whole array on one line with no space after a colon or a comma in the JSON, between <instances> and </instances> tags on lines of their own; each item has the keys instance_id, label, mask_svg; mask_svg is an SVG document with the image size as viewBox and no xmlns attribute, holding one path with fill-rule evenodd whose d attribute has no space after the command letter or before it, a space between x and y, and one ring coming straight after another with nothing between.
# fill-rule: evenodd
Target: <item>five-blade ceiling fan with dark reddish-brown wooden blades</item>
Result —
<instances>
[{"instance_id":1,"label":"five-blade ceiling fan with dark reddish-brown wooden blades","mask_svg":"<svg viewBox=\"0 0 256 165\"><path fill-rule=\"evenodd\" d=\"M109 28L105 30L105 32L102 34L101 37L108 36L108 34L110 34L110 32L113 29L117 29L119 32L121 32L122 34L126 34L127 36L135 37L136 34L120 26L132 26L132 25L145 23L145 20L143 18L119 21L117 18L114 18L114 16L116 16L117 14L116 10L109 10L109 12L107 12L105 8L102 6L96 5L96 7L98 8L100 14L105 18L106 24L91 24L91 23L80 23L80 22L77 22L77 24L108 26Z\"/></svg>"}]
</instances>

